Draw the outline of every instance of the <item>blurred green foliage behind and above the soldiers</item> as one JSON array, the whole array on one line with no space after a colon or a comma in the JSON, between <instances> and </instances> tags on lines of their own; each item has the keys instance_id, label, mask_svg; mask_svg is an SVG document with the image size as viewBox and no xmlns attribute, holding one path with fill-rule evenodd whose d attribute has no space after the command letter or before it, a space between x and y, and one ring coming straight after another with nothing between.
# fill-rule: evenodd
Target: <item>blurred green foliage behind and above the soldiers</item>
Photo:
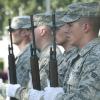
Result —
<instances>
[{"instance_id":1,"label":"blurred green foliage behind and above the soldiers","mask_svg":"<svg viewBox=\"0 0 100 100\"><path fill-rule=\"evenodd\" d=\"M50 0L51 9L65 9L72 2L100 0ZM46 11L46 0L0 0L0 35L4 34L8 19L17 15L31 15Z\"/></svg>"}]
</instances>

